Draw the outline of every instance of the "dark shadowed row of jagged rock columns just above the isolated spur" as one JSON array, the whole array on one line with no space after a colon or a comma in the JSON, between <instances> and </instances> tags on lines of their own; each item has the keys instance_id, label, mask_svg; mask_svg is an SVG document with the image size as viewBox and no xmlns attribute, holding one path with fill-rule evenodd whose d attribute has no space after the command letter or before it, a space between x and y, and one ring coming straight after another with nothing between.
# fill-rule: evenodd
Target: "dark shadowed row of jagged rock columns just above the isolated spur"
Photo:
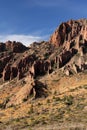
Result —
<instances>
[{"instance_id":1,"label":"dark shadowed row of jagged rock columns just above the isolated spur","mask_svg":"<svg viewBox=\"0 0 87 130\"><path fill-rule=\"evenodd\" d=\"M41 76L51 72L50 60L36 60L32 56L25 56L15 64L7 64L3 70L3 81L12 80L17 77L18 80L22 79L24 75L31 77ZM9 73L8 73L9 72Z\"/></svg>"}]
</instances>

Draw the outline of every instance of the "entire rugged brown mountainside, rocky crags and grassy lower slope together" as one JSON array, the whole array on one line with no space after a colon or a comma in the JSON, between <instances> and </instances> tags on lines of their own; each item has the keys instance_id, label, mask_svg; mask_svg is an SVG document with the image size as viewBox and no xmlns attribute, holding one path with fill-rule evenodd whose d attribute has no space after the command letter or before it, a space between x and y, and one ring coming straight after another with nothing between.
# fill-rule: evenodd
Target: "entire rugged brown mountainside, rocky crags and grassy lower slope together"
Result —
<instances>
[{"instance_id":1,"label":"entire rugged brown mountainside, rocky crags and grassy lower slope together","mask_svg":"<svg viewBox=\"0 0 87 130\"><path fill-rule=\"evenodd\" d=\"M86 89L87 19L63 22L29 47L0 43L1 130L86 129Z\"/></svg>"}]
</instances>

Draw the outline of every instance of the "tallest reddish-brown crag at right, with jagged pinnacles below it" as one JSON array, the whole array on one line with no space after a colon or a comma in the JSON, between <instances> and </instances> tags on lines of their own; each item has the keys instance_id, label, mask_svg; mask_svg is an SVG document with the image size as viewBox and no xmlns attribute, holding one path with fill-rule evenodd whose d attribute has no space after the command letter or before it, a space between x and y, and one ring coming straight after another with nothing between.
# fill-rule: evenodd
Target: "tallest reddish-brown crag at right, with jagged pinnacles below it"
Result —
<instances>
[{"instance_id":1,"label":"tallest reddish-brown crag at right, with jagged pinnacles below it","mask_svg":"<svg viewBox=\"0 0 87 130\"><path fill-rule=\"evenodd\" d=\"M51 36L50 43L56 45L56 47L62 47L62 51L57 58L59 68L69 63L75 55L78 55L77 63L75 65L72 63L74 67L71 68L75 72L82 71L83 67L81 66L84 66L84 63L79 62L78 59L85 56L83 59L87 61L87 20L70 20L62 23ZM73 59L73 62L75 62L75 58Z\"/></svg>"}]
</instances>

